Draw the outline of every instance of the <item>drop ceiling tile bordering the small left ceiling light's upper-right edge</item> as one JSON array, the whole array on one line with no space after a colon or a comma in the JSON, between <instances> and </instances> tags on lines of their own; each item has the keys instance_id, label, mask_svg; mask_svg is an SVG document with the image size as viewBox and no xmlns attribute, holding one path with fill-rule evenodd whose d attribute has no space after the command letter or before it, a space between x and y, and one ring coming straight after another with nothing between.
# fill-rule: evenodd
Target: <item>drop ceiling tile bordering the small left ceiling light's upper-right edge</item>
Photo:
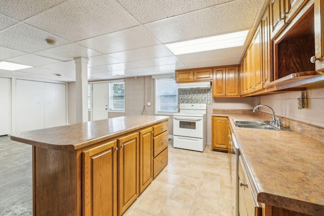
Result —
<instances>
[{"instance_id":1,"label":"drop ceiling tile bordering the small left ceiling light's upper-right edge","mask_svg":"<svg viewBox=\"0 0 324 216\"><path fill-rule=\"evenodd\" d=\"M50 58L37 56L33 54L7 59L7 61L12 63L17 63L17 64L33 66L33 67L61 62L56 59L50 59Z\"/></svg>"}]
</instances>

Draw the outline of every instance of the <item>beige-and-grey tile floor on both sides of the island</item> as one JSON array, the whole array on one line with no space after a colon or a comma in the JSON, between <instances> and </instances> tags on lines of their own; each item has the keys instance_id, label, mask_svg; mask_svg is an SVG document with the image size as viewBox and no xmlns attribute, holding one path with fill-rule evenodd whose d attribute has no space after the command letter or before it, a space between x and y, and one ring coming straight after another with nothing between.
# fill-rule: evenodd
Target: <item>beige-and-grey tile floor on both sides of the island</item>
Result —
<instances>
[{"instance_id":1,"label":"beige-and-grey tile floor on both sides of the island","mask_svg":"<svg viewBox=\"0 0 324 216\"><path fill-rule=\"evenodd\" d=\"M0 215L32 215L31 146L0 137ZM232 214L227 153L173 148L169 164L123 216Z\"/></svg>"}]
</instances>

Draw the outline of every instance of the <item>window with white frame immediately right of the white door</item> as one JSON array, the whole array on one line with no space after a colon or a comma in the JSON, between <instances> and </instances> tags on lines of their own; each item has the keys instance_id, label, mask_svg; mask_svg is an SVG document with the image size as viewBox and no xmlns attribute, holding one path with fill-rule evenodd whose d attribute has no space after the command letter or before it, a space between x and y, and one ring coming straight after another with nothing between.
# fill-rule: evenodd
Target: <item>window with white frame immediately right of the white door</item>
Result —
<instances>
[{"instance_id":1,"label":"window with white frame immediately right of the white door","mask_svg":"<svg viewBox=\"0 0 324 216\"><path fill-rule=\"evenodd\" d=\"M125 82L110 82L109 110L125 112Z\"/></svg>"}]
</instances>

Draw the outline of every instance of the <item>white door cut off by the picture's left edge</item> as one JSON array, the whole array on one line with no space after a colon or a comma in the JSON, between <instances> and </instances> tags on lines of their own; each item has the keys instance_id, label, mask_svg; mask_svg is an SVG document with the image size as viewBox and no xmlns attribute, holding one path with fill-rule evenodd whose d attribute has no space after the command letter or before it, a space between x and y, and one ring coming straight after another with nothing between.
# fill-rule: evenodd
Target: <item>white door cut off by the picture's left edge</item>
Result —
<instances>
[{"instance_id":1,"label":"white door cut off by the picture's left edge","mask_svg":"<svg viewBox=\"0 0 324 216\"><path fill-rule=\"evenodd\" d=\"M11 134L11 79L0 77L0 136Z\"/></svg>"}]
</instances>

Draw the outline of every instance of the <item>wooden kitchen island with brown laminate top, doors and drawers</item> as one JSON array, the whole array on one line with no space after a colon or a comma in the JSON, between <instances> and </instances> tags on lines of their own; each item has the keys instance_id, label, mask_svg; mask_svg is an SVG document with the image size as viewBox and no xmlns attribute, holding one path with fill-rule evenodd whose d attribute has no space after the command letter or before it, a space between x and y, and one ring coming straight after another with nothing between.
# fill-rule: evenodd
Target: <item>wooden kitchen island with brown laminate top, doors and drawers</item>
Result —
<instances>
[{"instance_id":1,"label":"wooden kitchen island with brown laminate top, doors and drawers","mask_svg":"<svg viewBox=\"0 0 324 216\"><path fill-rule=\"evenodd\" d=\"M11 135L32 145L33 215L121 215L168 164L168 116Z\"/></svg>"}]
</instances>

